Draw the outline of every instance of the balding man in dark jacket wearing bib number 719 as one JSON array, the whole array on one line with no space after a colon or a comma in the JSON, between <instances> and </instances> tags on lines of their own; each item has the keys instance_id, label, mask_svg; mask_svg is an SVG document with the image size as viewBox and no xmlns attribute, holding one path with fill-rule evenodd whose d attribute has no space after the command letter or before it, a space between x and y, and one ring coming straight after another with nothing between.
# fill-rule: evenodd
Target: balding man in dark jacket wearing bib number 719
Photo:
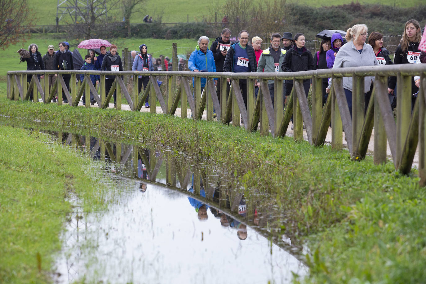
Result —
<instances>
[{"instance_id":1,"label":"balding man in dark jacket wearing bib number 719","mask_svg":"<svg viewBox=\"0 0 426 284\"><path fill-rule=\"evenodd\" d=\"M242 30L239 32L239 42L232 44L226 55L225 63L223 64L224 72L256 72L256 55L253 47L247 44L248 38L247 31ZM230 78L228 78L227 81L230 82ZM241 89L244 105L247 108L247 80L240 79L239 87Z\"/></svg>"}]
</instances>

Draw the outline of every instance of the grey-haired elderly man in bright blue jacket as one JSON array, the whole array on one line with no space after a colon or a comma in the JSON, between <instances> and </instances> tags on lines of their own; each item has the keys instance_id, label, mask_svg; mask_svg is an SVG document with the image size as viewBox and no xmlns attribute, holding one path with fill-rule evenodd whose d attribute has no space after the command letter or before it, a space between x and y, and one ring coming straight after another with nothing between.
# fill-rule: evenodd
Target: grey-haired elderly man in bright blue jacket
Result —
<instances>
[{"instance_id":1,"label":"grey-haired elderly man in bright blue jacket","mask_svg":"<svg viewBox=\"0 0 426 284\"><path fill-rule=\"evenodd\" d=\"M208 37L202 36L198 39L198 45L191 53L188 60L188 68L193 72L216 72L216 64L214 63L213 52L208 49L210 40ZM195 80L192 78L192 84L195 86ZM214 85L217 84L215 78ZM201 92L206 85L206 78L201 78Z\"/></svg>"}]
</instances>

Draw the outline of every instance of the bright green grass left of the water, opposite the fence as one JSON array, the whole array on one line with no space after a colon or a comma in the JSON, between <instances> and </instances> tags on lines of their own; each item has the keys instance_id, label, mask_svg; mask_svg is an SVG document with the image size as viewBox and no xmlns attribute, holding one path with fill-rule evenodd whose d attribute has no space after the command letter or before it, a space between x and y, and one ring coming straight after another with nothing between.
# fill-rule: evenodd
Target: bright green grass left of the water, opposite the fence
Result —
<instances>
[{"instance_id":1,"label":"bright green grass left of the water, opposite the fence","mask_svg":"<svg viewBox=\"0 0 426 284\"><path fill-rule=\"evenodd\" d=\"M103 209L107 187L88 158L47 135L0 126L0 282L51 282L60 232L72 204ZM98 175L99 176L99 175ZM96 192L96 194L94 194Z\"/></svg>"}]
</instances>

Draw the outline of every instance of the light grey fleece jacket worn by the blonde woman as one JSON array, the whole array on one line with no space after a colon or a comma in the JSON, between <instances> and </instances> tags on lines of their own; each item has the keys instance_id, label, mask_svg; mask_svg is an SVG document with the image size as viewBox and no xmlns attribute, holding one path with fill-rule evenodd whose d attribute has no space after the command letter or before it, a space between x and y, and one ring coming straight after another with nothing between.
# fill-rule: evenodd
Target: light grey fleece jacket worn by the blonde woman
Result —
<instances>
[{"instance_id":1,"label":"light grey fleece jacket worn by the blonde woman","mask_svg":"<svg viewBox=\"0 0 426 284\"><path fill-rule=\"evenodd\" d=\"M337 52L334 59L334 68L340 67L360 67L360 66L374 66L379 65L376 60L371 45L364 43L363 51L360 52L355 48L354 41L344 44ZM370 90L371 83L374 83L374 77L364 77L364 93ZM343 88L352 92L352 77L343 77Z\"/></svg>"}]
</instances>

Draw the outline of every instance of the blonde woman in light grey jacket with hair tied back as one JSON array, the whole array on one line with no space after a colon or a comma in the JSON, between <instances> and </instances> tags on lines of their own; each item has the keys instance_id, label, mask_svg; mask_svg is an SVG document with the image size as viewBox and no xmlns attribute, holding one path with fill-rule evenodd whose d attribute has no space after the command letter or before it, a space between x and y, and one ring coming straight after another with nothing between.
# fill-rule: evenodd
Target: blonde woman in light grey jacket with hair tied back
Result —
<instances>
[{"instance_id":1,"label":"blonde woman in light grey jacket with hair tied back","mask_svg":"<svg viewBox=\"0 0 426 284\"><path fill-rule=\"evenodd\" d=\"M374 66L378 65L376 55L371 45L366 43L368 28L364 24L354 25L346 32L348 43L343 45L337 52L333 68ZM373 76L364 77L364 95L370 90L374 83ZM352 77L343 77L343 89L348 101L349 113L352 117Z\"/></svg>"}]
</instances>

